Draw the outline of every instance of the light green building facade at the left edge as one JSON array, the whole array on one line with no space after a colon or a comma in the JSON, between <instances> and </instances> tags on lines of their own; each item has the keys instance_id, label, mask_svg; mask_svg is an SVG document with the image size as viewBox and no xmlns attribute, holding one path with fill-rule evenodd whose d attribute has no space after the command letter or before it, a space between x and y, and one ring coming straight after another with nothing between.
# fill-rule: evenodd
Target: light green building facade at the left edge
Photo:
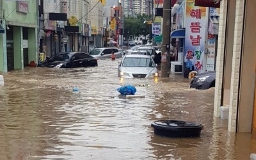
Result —
<instances>
[{"instance_id":1,"label":"light green building facade at the left edge","mask_svg":"<svg viewBox=\"0 0 256 160\"><path fill-rule=\"evenodd\" d=\"M33 0L0 1L0 26L4 30L0 33L1 72L22 69L30 61L37 61L37 6L38 1Z\"/></svg>"}]
</instances>

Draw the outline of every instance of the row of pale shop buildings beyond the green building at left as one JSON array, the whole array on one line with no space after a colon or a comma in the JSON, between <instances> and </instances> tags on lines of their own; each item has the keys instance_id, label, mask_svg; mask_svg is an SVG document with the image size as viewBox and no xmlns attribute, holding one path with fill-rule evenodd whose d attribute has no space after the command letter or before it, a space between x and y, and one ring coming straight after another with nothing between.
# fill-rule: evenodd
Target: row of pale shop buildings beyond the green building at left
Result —
<instances>
[{"instance_id":1,"label":"row of pale shop buildings beyond the green building at left","mask_svg":"<svg viewBox=\"0 0 256 160\"><path fill-rule=\"evenodd\" d=\"M90 45L101 47L102 3L92 0L56 0L40 3L40 51L47 56L60 51L89 51ZM62 13L66 20L50 20ZM43 16L43 17L42 17Z\"/></svg>"}]
</instances>

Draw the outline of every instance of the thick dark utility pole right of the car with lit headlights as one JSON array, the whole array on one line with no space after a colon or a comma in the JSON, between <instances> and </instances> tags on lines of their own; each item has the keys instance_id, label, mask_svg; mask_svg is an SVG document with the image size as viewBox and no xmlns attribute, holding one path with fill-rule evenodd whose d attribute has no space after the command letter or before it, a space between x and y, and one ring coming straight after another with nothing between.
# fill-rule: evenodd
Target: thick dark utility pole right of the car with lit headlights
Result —
<instances>
[{"instance_id":1,"label":"thick dark utility pole right of the car with lit headlights","mask_svg":"<svg viewBox=\"0 0 256 160\"><path fill-rule=\"evenodd\" d=\"M164 0L163 4L163 42L162 42L162 60L161 77L170 76L170 26L171 26L171 1Z\"/></svg>"}]
</instances>

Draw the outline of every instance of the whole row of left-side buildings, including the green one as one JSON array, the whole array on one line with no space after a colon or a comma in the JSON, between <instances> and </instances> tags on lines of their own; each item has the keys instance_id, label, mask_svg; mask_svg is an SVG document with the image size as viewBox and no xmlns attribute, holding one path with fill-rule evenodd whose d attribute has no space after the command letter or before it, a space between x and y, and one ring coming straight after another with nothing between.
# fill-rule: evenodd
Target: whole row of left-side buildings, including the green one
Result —
<instances>
[{"instance_id":1,"label":"whole row of left-side buildings, including the green one","mask_svg":"<svg viewBox=\"0 0 256 160\"><path fill-rule=\"evenodd\" d=\"M102 47L103 2L0 0L0 71L22 69L38 55Z\"/></svg>"}]
</instances>

